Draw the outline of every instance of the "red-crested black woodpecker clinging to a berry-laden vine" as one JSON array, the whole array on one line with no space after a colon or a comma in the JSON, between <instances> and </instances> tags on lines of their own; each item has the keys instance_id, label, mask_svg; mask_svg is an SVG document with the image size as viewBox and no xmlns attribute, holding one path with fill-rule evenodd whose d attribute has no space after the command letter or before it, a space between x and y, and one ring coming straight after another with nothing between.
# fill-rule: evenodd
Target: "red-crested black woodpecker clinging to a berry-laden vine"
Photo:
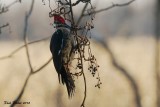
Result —
<instances>
[{"instance_id":1,"label":"red-crested black woodpecker clinging to a berry-laden vine","mask_svg":"<svg viewBox=\"0 0 160 107\"><path fill-rule=\"evenodd\" d=\"M71 34L70 26L60 15L54 15L54 24L56 31L50 41L50 51L59 82L66 85L68 96L71 97L75 90L74 80L69 70L69 64L74 56L74 37Z\"/></svg>"}]
</instances>

